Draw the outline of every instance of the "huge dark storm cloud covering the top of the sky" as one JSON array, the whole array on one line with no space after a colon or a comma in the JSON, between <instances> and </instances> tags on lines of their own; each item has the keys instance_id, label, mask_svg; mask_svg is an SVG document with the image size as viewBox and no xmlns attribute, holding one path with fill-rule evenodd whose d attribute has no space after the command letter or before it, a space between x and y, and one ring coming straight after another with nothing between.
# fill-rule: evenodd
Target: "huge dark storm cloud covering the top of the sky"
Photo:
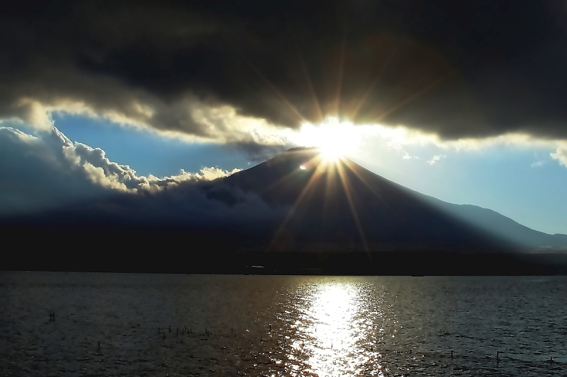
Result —
<instances>
[{"instance_id":1,"label":"huge dark storm cloud covering the top of the sky","mask_svg":"<svg viewBox=\"0 0 567 377\"><path fill-rule=\"evenodd\" d=\"M567 138L563 1L14 1L0 35L0 117L82 103L215 137L195 110L231 105Z\"/></svg>"}]
</instances>

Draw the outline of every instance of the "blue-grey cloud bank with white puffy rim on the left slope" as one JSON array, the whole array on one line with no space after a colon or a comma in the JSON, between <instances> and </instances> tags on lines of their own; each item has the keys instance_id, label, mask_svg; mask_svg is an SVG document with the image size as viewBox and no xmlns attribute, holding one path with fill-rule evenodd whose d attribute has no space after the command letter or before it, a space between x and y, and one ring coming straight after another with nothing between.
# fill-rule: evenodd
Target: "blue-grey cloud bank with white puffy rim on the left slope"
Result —
<instances>
[{"instance_id":1,"label":"blue-grey cloud bank with white puffy rim on the left slope","mask_svg":"<svg viewBox=\"0 0 567 377\"><path fill-rule=\"evenodd\" d=\"M238 171L203 168L157 178L137 175L105 152L69 140L57 128L27 134L0 127L0 214L18 214L103 197L112 192L158 192L183 182L213 180Z\"/></svg>"}]
</instances>

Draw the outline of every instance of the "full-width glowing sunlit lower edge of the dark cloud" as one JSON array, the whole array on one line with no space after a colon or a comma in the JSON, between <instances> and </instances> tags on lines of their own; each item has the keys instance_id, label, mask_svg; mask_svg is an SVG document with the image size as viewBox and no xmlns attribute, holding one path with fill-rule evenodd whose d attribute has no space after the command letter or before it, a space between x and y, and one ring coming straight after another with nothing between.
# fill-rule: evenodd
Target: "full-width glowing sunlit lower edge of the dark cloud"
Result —
<instances>
[{"instance_id":1,"label":"full-width glowing sunlit lower edge of the dark cloud","mask_svg":"<svg viewBox=\"0 0 567 377\"><path fill-rule=\"evenodd\" d=\"M549 149L549 156L567 167L567 140L544 139L534 137L527 133L500 134L493 137L442 139L437 134L422 132L406 125L385 124L354 124L349 120L339 117L326 117L320 124L305 122L298 129L280 127L270 124L266 120L245 117L239 115L235 108L230 105L213 107L191 99L188 100L189 113L195 122L207 130L206 136L182 132L179 129L157 129L150 124L133 119L116 111L97 112L82 102L71 100L60 100L55 105L44 105L37 100L23 98L23 105L30 107L28 119L21 120L12 117L10 120L21 121L30 124L36 129L48 130L55 122L53 114L79 115L95 120L113 122L122 127L134 127L144 132L151 132L159 137L179 139L189 144L230 144L230 143L253 143L266 146L323 146L324 150L332 150L322 145L328 140L329 135L335 136L342 132L342 145L339 154L352 156L357 153L359 146L371 139L386 142L390 149L404 151L406 158L410 156L403 146L420 145L436 146L439 149L452 149L454 151L481 151L496 147L515 146L526 149L541 148ZM137 112L146 117L152 116L152 109L142 103L133 103ZM0 124L3 120L0 120ZM6 121L6 119L4 119ZM338 138L337 138L338 139ZM332 144L332 143L331 143ZM336 144L336 143L335 143Z\"/></svg>"}]
</instances>

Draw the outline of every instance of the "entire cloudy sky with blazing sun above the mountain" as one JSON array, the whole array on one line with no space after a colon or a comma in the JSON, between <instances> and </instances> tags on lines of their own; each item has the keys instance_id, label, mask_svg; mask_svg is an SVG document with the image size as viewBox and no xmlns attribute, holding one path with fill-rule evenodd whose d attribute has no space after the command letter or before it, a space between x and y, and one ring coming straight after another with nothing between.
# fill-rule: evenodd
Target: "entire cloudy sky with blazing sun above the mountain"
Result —
<instances>
[{"instance_id":1,"label":"entire cloudy sky with blazing sun above the mountain","mask_svg":"<svg viewBox=\"0 0 567 377\"><path fill-rule=\"evenodd\" d=\"M0 35L0 216L320 146L567 233L565 1L18 1Z\"/></svg>"}]
</instances>

